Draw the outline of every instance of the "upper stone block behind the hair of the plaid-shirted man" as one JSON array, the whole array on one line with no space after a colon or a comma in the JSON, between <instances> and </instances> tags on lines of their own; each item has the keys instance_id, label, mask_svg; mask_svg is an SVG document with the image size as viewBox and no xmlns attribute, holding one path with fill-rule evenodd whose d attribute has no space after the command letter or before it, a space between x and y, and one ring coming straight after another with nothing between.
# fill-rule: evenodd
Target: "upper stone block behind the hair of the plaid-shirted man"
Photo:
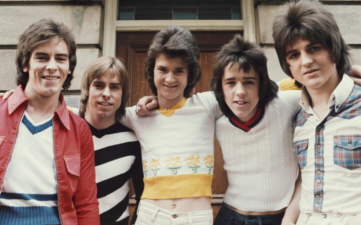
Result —
<instances>
[{"instance_id":1,"label":"upper stone block behind the hair of the plaid-shirted man","mask_svg":"<svg viewBox=\"0 0 361 225\"><path fill-rule=\"evenodd\" d=\"M261 43L273 43L272 23L280 5L258 5ZM347 44L361 44L361 5L325 5L335 16L340 32Z\"/></svg>"}]
</instances>

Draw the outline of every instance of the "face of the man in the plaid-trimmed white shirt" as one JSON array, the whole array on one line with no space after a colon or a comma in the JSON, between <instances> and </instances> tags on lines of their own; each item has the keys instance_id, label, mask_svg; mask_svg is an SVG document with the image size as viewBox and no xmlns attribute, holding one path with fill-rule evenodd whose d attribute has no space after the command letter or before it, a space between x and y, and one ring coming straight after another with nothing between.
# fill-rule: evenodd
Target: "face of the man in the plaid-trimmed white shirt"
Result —
<instances>
[{"instance_id":1,"label":"face of the man in the plaid-trimmed white shirt","mask_svg":"<svg viewBox=\"0 0 361 225\"><path fill-rule=\"evenodd\" d=\"M330 51L320 44L298 39L287 46L286 61L293 78L308 91L333 91L339 84L340 77Z\"/></svg>"}]
</instances>

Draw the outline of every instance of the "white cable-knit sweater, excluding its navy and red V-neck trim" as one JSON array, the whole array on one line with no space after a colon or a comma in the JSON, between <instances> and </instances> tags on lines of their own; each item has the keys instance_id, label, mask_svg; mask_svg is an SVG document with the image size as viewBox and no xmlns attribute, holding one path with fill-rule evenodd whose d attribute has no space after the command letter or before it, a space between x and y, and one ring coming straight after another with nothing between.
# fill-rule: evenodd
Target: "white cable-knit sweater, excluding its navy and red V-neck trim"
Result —
<instances>
[{"instance_id":1,"label":"white cable-knit sweater, excluding its navy and red V-neck trim","mask_svg":"<svg viewBox=\"0 0 361 225\"><path fill-rule=\"evenodd\" d=\"M288 206L298 171L292 139L299 93L279 91L248 132L232 125L226 116L217 119L216 138L229 181L223 202L248 212Z\"/></svg>"}]
</instances>

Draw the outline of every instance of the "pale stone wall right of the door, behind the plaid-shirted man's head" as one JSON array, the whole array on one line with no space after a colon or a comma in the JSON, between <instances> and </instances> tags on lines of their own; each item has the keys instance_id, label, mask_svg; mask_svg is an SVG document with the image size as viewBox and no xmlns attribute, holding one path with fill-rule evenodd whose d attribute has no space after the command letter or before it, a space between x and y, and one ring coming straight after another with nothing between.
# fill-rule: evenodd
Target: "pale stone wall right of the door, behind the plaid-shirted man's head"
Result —
<instances>
[{"instance_id":1,"label":"pale stone wall right of the door, behind the plaid-shirted man's head","mask_svg":"<svg viewBox=\"0 0 361 225\"><path fill-rule=\"evenodd\" d=\"M361 65L361 1L322 1L325 8L334 14L336 22L347 44L351 46L352 63ZM271 79L286 78L274 50L272 23L277 16L282 1L256 1L258 40L268 58L268 71Z\"/></svg>"}]
</instances>

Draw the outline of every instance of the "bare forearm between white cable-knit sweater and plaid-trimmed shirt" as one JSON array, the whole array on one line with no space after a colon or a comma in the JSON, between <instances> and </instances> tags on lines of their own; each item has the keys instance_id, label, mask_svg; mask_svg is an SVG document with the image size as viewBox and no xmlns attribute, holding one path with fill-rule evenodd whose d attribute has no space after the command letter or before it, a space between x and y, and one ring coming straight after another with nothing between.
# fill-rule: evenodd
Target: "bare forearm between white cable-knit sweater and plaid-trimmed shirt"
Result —
<instances>
[{"instance_id":1,"label":"bare forearm between white cable-knit sweater and plaid-trimmed shirt","mask_svg":"<svg viewBox=\"0 0 361 225\"><path fill-rule=\"evenodd\" d=\"M286 224L296 224L297 219L300 215L300 199L301 199L301 170L299 168L299 175L295 183L295 190L293 191L293 196L290 204L288 205L284 217L282 220L282 225Z\"/></svg>"}]
</instances>

